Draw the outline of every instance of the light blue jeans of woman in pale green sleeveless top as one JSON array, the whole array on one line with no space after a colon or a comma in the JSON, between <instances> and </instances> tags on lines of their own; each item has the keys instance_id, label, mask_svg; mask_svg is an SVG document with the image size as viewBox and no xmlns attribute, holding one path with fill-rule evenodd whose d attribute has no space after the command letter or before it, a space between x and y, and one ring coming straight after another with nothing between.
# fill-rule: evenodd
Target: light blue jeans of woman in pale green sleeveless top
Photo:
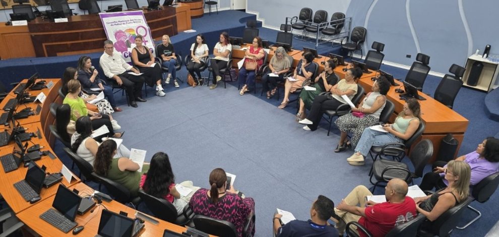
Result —
<instances>
[{"instance_id":1,"label":"light blue jeans of woman in pale green sleeveless top","mask_svg":"<svg viewBox=\"0 0 499 237\"><path fill-rule=\"evenodd\" d=\"M391 133L378 132L370 128L365 128L357 143L357 147L355 147L355 151L360 152L363 156L367 156L372 146L384 146L389 142L403 142L403 140Z\"/></svg>"}]
</instances>

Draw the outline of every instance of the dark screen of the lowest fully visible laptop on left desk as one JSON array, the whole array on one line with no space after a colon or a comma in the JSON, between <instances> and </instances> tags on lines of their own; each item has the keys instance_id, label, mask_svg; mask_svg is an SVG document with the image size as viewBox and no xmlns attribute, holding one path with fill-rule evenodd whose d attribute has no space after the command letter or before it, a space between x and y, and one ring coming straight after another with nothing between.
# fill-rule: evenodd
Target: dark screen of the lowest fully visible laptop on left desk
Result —
<instances>
[{"instance_id":1,"label":"dark screen of the lowest fully visible laptop on left desk","mask_svg":"<svg viewBox=\"0 0 499 237\"><path fill-rule=\"evenodd\" d=\"M71 221L74 221L81 201L82 197L78 194L69 190L64 185L59 185L52 207Z\"/></svg>"}]
</instances>

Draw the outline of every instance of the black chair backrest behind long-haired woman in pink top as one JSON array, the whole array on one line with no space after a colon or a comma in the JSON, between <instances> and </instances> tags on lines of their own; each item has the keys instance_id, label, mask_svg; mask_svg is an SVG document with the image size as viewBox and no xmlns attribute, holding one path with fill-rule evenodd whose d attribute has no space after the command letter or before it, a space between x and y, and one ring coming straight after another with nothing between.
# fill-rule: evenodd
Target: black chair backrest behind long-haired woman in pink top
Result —
<instances>
[{"instance_id":1,"label":"black chair backrest behind long-haired woman in pink top","mask_svg":"<svg viewBox=\"0 0 499 237\"><path fill-rule=\"evenodd\" d=\"M156 198L147 194L144 190L139 190L139 197L146 204L147 208L151 210L154 216L175 224L177 210L168 200Z\"/></svg>"}]
</instances>

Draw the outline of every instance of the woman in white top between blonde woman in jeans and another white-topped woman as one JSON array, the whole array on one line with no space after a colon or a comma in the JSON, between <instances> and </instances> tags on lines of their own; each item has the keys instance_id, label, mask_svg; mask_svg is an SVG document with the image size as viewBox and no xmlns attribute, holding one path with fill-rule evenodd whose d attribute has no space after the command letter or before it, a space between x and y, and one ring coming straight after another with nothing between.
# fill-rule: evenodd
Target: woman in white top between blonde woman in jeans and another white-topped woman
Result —
<instances>
[{"instance_id":1,"label":"woman in white top between blonde woman in jeans and another white-topped woman","mask_svg":"<svg viewBox=\"0 0 499 237\"><path fill-rule=\"evenodd\" d=\"M206 64L206 58L208 57L208 45L205 44L205 37L202 34L196 36L196 43L191 45L191 61L187 64L187 71L193 77L195 84L194 86L203 85L203 79L201 78L201 72L199 69ZM198 75L194 75L194 72Z\"/></svg>"}]
</instances>

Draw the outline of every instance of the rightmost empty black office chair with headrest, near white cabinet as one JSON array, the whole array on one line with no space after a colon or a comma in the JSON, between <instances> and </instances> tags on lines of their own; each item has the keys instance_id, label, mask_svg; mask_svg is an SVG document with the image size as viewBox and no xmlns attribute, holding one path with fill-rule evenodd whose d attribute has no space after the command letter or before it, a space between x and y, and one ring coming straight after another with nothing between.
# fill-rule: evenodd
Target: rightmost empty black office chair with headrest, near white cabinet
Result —
<instances>
[{"instance_id":1,"label":"rightmost empty black office chair with headrest, near white cabinet","mask_svg":"<svg viewBox=\"0 0 499 237\"><path fill-rule=\"evenodd\" d=\"M444 78L442 78L439 86L436 87L433 98L447 107L452 108L454 106L454 99L463 85L461 78L463 77L465 70L466 69L463 67L453 64L451 68L449 68L449 72L454 74L454 76L446 74Z\"/></svg>"}]
</instances>

